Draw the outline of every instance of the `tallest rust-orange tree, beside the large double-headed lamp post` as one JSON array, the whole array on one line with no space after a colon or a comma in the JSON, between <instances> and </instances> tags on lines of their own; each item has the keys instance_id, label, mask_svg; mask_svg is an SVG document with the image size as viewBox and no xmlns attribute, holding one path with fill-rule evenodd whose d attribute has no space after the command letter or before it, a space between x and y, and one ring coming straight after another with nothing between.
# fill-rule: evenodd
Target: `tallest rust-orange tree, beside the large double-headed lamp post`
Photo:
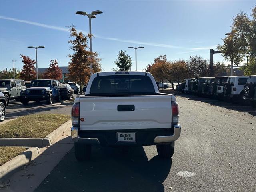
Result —
<instances>
[{"instance_id":1,"label":"tallest rust-orange tree, beside the large double-headed lamp post","mask_svg":"<svg viewBox=\"0 0 256 192\"><path fill-rule=\"evenodd\" d=\"M90 51L87 45L87 37L82 32L78 32L75 26L68 26L70 32L71 44L70 50L74 53L68 55L71 62L68 63L68 78L74 82L78 82L80 87L90 79ZM92 52L92 70L93 72L101 71L101 59L98 57L97 52ZM82 94L82 89L80 94Z\"/></svg>"}]
</instances>

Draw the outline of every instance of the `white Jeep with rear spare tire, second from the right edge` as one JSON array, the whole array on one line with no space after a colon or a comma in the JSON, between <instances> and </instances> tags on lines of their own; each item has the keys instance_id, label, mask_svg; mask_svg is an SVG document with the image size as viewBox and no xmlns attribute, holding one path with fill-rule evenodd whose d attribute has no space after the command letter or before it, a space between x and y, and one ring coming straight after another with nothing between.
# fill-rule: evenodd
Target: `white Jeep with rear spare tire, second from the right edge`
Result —
<instances>
[{"instance_id":1,"label":"white Jeep with rear spare tire, second from the right edge","mask_svg":"<svg viewBox=\"0 0 256 192\"><path fill-rule=\"evenodd\" d=\"M244 85L247 80L248 76L230 76L223 87L224 98L234 103L243 103Z\"/></svg>"}]
</instances>

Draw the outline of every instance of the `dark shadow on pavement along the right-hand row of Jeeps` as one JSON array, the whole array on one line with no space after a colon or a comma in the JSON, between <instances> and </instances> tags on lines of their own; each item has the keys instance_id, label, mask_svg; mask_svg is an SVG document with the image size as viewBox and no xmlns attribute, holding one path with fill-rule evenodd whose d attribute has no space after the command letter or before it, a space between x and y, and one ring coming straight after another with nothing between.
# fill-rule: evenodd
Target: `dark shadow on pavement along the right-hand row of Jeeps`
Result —
<instances>
[{"instance_id":1,"label":"dark shadow on pavement along the right-hand row of Jeeps","mask_svg":"<svg viewBox=\"0 0 256 192\"><path fill-rule=\"evenodd\" d=\"M196 96L193 94L181 93L181 92L174 91L174 90L161 91L161 92L188 98L188 100L201 101L201 102L208 103L210 105L224 107L229 110L235 110L235 111L239 111L239 112L247 112L253 116L256 116L256 110L254 108L252 108L251 106L249 106L249 104L246 104L246 105L234 104L231 102L226 102L224 100L217 100L216 98L200 97L200 96Z\"/></svg>"}]
</instances>

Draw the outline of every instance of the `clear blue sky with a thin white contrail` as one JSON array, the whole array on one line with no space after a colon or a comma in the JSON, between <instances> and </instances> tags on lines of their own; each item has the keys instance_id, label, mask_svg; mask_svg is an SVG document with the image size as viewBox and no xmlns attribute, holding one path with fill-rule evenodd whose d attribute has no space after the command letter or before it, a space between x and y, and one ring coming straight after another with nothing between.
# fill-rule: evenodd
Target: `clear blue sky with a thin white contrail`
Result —
<instances>
[{"instance_id":1,"label":"clear blue sky with a thin white contrail","mask_svg":"<svg viewBox=\"0 0 256 192\"><path fill-rule=\"evenodd\" d=\"M210 48L221 44L230 30L232 17L240 10L250 14L255 0L204 1L85 1L85 0L1 0L0 1L0 70L22 68L20 54L35 59L38 49L38 68L47 68L51 59L59 66L68 66L69 33L65 26L75 25L89 31L86 16L78 10L103 14L92 20L92 50L102 58L104 71L115 68L120 50L132 57L135 70L135 51L128 46L144 46L137 50L137 68L142 70L154 58L166 54L168 60L188 59L200 55L210 59ZM215 61L222 61L219 54ZM229 62L225 62L228 64Z\"/></svg>"}]
</instances>

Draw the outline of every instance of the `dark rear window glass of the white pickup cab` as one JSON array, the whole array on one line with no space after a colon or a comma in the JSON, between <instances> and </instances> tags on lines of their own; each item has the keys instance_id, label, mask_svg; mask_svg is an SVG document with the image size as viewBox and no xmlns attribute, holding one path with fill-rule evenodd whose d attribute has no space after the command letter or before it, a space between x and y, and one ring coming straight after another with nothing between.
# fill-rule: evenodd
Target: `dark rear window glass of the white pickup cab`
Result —
<instances>
[{"instance_id":1,"label":"dark rear window glass of the white pickup cab","mask_svg":"<svg viewBox=\"0 0 256 192\"><path fill-rule=\"evenodd\" d=\"M93 95L150 94L155 89L151 79L142 75L110 75L94 78L90 88Z\"/></svg>"}]
</instances>

